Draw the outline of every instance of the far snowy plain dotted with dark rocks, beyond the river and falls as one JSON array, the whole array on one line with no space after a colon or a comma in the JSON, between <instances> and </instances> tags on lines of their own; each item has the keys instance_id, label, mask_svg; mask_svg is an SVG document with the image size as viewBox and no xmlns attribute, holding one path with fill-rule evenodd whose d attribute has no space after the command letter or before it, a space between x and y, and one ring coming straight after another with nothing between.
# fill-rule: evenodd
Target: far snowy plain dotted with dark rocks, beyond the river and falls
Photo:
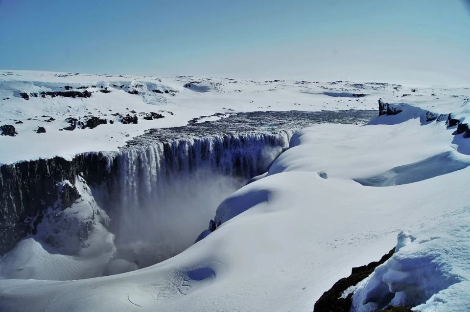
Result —
<instances>
[{"instance_id":1,"label":"far snowy plain dotted with dark rocks, beyond the river and falls","mask_svg":"<svg viewBox=\"0 0 470 312\"><path fill-rule=\"evenodd\" d=\"M0 70L0 126L12 125L18 133L0 136L0 163L116 151L147 129L184 126L193 118L203 122L239 111L376 110L380 97L438 94L447 98L449 94L462 93L463 89L413 89L374 82L252 81ZM163 118L153 118L150 112ZM71 118L76 119L78 128L64 130L71 127ZM126 124L120 122L123 119ZM100 122L106 124L95 126ZM38 134L38 127L43 127L46 133Z\"/></svg>"}]
</instances>

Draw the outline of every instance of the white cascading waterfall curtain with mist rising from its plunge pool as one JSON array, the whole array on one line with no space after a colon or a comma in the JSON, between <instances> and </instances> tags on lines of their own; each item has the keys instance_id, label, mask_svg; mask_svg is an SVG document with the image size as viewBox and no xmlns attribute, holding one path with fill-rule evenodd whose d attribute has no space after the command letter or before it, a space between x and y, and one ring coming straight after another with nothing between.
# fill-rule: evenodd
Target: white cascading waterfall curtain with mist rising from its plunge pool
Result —
<instances>
[{"instance_id":1,"label":"white cascading waterfall curtain with mist rising from its plunge pool","mask_svg":"<svg viewBox=\"0 0 470 312\"><path fill-rule=\"evenodd\" d=\"M98 202L111 217L117 257L148 266L191 245L217 205L265 172L292 134L215 134L118 154L111 180L95 191L105 194Z\"/></svg>"}]
</instances>

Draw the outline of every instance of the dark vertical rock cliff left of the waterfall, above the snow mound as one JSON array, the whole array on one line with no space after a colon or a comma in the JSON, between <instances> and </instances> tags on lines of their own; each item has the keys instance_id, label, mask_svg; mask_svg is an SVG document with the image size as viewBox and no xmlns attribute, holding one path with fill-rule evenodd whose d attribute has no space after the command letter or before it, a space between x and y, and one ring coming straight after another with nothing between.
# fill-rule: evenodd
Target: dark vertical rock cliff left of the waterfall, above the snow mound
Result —
<instances>
[{"instance_id":1,"label":"dark vertical rock cliff left of the waterfall, above the snow mound","mask_svg":"<svg viewBox=\"0 0 470 312\"><path fill-rule=\"evenodd\" d=\"M0 255L35 234L47 208L59 203L65 209L80 197L73 186L78 174L91 185L101 183L109 176L107 158L90 153L0 166Z\"/></svg>"}]
</instances>

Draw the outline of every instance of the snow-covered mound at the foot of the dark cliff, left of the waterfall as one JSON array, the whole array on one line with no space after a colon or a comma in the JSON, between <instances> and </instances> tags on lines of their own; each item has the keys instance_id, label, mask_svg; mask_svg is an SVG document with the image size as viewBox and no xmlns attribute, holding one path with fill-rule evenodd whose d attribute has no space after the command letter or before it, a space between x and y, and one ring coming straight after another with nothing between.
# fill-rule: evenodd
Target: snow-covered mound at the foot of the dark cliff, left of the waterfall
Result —
<instances>
[{"instance_id":1,"label":"snow-covered mound at the foot of the dark cliff, left of the waterfall","mask_svg":"<svg viewBox=\"0 0 470 312\"><path fill-rule=\"evenodd\" d=\"M1 279L64 280L101 274L116 251L114 235L107 230L108 216L96 205L90 189L83 180L77 185L81 199L49 213L37 234L0 258ZM77 232L82 235L77 237Z\"/></svg>"}]
</instances>

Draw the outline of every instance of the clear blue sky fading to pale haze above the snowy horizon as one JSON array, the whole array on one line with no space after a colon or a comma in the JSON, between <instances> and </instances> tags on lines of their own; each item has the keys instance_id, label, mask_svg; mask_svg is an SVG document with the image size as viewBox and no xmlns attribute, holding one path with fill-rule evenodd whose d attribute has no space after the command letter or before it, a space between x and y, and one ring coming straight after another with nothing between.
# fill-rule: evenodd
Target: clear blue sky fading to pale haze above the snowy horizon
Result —
<instances>
[{"instance_id":1,"label":"clear blue sky fading to pale haze above the snowy horizon","mask_svg":"<svg viewBox=\"0 0 470 312\"><path fill-rule=\"evenodd\" d=\"M465 0L0 0L0 68L470 85Z\"/></svg>"}]
</instances>

